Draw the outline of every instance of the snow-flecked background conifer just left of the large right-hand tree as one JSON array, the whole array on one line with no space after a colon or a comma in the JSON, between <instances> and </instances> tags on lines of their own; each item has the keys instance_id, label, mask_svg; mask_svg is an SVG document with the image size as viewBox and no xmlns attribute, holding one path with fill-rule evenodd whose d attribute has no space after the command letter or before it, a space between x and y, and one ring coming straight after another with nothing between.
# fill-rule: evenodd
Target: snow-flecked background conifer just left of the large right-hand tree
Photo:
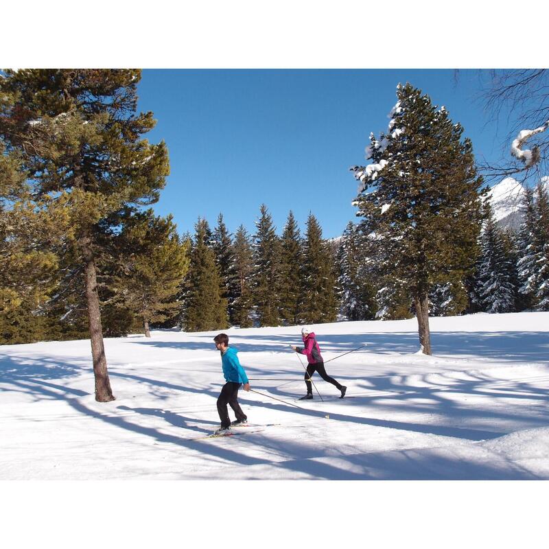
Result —
<instances>
[{"instance_id":1,"label":"snow-flecked background conifer just left of the large right-hand tree","mask_svg":"<svg viewBox=\"0 0 549 549\"><path fill-rule=\"evenodd\" d=\"M366 237L349 222L338 246L340 314L348 320L375 318L375 288L368 276Z\"/></svg>"}]
</instances>

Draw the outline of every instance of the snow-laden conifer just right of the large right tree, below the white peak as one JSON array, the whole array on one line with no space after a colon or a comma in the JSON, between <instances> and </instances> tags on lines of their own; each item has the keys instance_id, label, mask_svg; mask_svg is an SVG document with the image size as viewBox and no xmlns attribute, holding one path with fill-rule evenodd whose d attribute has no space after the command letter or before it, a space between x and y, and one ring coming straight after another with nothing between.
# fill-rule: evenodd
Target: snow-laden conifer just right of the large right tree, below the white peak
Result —
<instances>
[{"instance_id":1,"label":"snow-laden conifer just right of the large right tree, below the white peak","mask_svg":"<svg viewBox=\"0 0 549 549\"><path fill-rule=\"evenodd\" d=\"M507 313L515 310L513 260L506 250L502 230L495 224L489 205L487 218L480 235L480 256L477 266L477 288L480 307L488 313Z\"/></svg>"}]
</instances>

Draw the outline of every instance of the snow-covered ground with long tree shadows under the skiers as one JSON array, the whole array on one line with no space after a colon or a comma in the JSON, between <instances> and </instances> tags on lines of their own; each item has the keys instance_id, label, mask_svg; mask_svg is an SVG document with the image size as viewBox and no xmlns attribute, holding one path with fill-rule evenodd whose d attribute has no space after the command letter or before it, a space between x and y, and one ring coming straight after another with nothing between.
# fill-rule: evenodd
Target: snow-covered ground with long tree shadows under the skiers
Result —
<instances>
[{"instance_id":1,"label":"snow-covered ground with long tree shadows under the skiers","mask_svg":"<svg viewBox=\"0 0 549 549\"><path fill-rule=\"evenodd\" d=\"M314 325L325 361L366 347L327 362L347 397L314 375L312 401L299 328L229 329L263 393L242 408L274 425L222 439L215 332L106 339L106 404L88 340L0 347L0 479L549 479L549 313L430 327L425 356L414 319Z\"/></svg>"}]
</instances>

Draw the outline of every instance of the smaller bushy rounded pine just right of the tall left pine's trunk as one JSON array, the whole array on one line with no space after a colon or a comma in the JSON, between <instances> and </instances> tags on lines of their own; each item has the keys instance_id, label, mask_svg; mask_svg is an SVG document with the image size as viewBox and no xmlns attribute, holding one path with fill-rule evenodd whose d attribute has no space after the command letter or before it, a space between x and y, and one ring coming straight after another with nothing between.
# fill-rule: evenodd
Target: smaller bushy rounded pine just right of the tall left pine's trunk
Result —
<instances>
[{"instance_id":1,"label":"smaller bushy rounded pine just right of the tall left pine's trunk","mask_svg":"<svg viewBox=\"0 0 549 549\"><path fill-rule=\"evenodd\" d=\"M163 322L180 307L176 296L189 267L188 243L180 242L171 215L155 217L147 210L126 220L118 247L115 294L150 337L150 324Z\"/></svg>"}]
</instances>

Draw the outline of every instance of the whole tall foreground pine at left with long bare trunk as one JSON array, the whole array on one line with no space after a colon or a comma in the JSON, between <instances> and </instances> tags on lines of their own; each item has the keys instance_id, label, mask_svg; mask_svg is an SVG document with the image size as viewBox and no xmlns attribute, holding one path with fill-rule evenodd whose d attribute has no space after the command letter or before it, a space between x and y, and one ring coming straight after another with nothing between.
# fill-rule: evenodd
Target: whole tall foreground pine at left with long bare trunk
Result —
<instances>
[{"instance_id":1,"label":"whole tall foreground pine at left with long bare trunk","mask_svg":"<svg viewBox=\"0 0 549 549\"><path fill-rule=\"evenodd\" d=\"M95 399L113 400L103 344L97 259L120 213L158 200L169 171L164 143L141 136L152 113L136 114L134 69L6 71L0 138L23 156L36 196L56 195L71 215L67 242L84 270ZM76 254L75 254L76 255Z\"/></svg>"}]
</instances>

